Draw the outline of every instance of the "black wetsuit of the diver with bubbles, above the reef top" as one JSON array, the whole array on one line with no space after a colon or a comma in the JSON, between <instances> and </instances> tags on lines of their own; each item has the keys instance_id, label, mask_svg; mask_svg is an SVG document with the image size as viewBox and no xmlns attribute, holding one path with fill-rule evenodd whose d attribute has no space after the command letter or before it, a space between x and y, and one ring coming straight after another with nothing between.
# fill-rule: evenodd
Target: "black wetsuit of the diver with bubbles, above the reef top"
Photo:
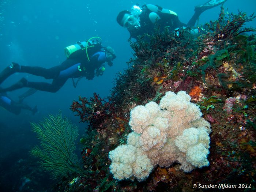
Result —
<instances>
[{"instance_id":1,"label":"black wetsuit of the diver with bubbles, above the reef top","mask_svg":"<svg viewBox=\"0 0 256 192\"><path fill-rule=\"evenodd\" d=\"M163 13L161 12L162 7L157 6L158 10L156 13L159 15L161 19L157 20L157 24L160 25L160 30L163 30L165 27L169 27L169 30L174 30L178 27L187 26L186 24L180 22L177 15L170 14L170 13ZM152 34L154 31L155 23L151 22L150 20L150 13L153 12L147 8L147 5L142 6L142 13L139 15L140 18L140 27L137 29L135 28L128 28L130 33L130 38L138 39L139 35Z\"/></svg>"}]
</instances>

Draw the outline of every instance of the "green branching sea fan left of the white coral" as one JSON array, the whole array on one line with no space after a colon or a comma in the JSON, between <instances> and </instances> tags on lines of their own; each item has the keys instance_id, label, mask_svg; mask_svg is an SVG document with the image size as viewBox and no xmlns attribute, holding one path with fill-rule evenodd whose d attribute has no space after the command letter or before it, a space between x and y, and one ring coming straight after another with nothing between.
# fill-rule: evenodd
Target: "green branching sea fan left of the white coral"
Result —
<instances>
[{"instance_id":1,"label":"green branching sea fan left of the white coral","mask_svg":"<svg viewBox=\"0 0 256 192\"><path fill-rule=\"evenodd\" d=\"M61 112L56 116L49 114L39 124L31 123L31 127L41 142L40 147L33 147L30 153L41 159L39 163L53 178L82 171L74 153L78 127L66 117L62 118Z\"/></svg>"}]
</instances>

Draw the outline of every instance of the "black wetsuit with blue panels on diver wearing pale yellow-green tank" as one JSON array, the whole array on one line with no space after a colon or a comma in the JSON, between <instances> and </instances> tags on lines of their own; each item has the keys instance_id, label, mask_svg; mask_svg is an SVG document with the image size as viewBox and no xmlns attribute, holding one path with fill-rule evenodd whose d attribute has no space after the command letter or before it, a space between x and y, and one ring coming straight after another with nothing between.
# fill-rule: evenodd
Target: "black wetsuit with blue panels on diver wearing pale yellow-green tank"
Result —
<instances>
[{"instance_id":1,"label":"black wetsuit with blue panels on diver wearing pale yellow-green tank","mask_svg":"<svg viewBox=\"0 0 256 192\"><path fill-rule=\"evenodd\" d=\"M42 76L45 79L53 79L53 81L52 83L29 82L24 81L23 78L22 84L21 82L16 83L11 87L3 89L2 92L12 91L22 87L30 87L36 90L55 93L69 78L79 78L84 76L89 80L93 79L95 76L95 70L98 70L105 62L107 62L105 52L98 51L90 57L90 61L88 61L87 57L83 55L83 57L69 58L60 65L49 69L42 67L20 66L19 72Z\"/></svg>"}]
</instances>

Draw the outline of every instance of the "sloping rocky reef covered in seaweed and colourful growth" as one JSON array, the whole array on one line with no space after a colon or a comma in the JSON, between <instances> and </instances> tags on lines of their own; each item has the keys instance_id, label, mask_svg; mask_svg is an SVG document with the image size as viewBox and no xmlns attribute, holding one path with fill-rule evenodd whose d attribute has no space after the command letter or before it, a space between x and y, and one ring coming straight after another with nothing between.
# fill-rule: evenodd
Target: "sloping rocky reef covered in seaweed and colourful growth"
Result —
<instances>
[{"instance_id":1,"label":"sloping rocky reef covered in seaweed and colourful growth","mask_svg":"<svg viewBox=\"0 0 256 192\"><path fill-rule=\"evenodd\" d=\"M255 190L256 39L255 35L246 34L246 32L255 32L255 29L243 27L245 22L253 18L252 15L246 16L242 12L238 12L237 15L224 15L222 10L217 21L205 25L206 34L200 34L197 38L190 35L189 29L180 30L179 36L168 31L156 30L154 34L145 34L139 41L132 43L134 57L128 62L128 69L117 74L116 84L109 96L113 110L96 123L93 118L88 118L90 129L87 129L86 135L80 139L83 145L84 173L63 180L57 189L59 191L211 191L210 188L195 189L193 185L230 184L238 187L239 184L247 184L244 185L247 187L236 188L236 191ZM161 102L165 97L163 95L169 91L173 93L185 91L189 94L193 105L197 105L201 110L202 118L211 124L210 153L207 157L209 166L193 168L191 172L185 173L180 170L180 168L184 169L182 163L170 165L170 162L184 162L184 158L178 160L175 158L164 165L160 162L164 160L163 158L147 157L150 162L145 160L142 165L148 167L143 166L142 172L133 173L136 169L123 169L125 172L120 177L133 175L143 178L143 182L136 179L116 180L110 173L109 167L113 162L109 157L113 159L110 151L118 148L125 151L123 154L130 154L130 159L125 163L130 163L131 167L140 164L135 157L143 155L140 154L142 152L146 153L144 151L147 151L147 148L154 146L148 150L154 155L153 151L159 151L161 146L167 143L173 143L175 150L186 154L182 157L186 156L187 162L195 161L199 152L207 153L208 140L200 140L201 132L200 128L195 128L197 126L194 126L195 129L191 126L186 127L182 132L173 132L172 134L176 134L173 136L176 139L171 141L167 139L169 137L167 133L165 141L165 135L162 135L158 127L143 129L144 127L135 125L147 123L140 122L139 119L137 121L135 118L136 115L142 114L148 118L147 110L144 110L146 105L156 106L160 103L158 106L162 108L161 111L168 108L169 106L162 107ZM93 103L89 106L93 109ZM133 111L137 106L137 109L141 108L139 113ZM87 108L74 107L78 107L77 109L83 114L88 115L84 116L85 120L91 117L91 113L86 113ZM94 113L95 116L96 114ZM134 123L131 123L131 119ZM177 119L177 122L179 121L181 120ZM163 129L166 125L161 121L154 125L157 124ZM159 135L161 140L157 139ZM202 135L206 138L206 132L202 132ZM156 139L151 143L147 140L148 137ZM190 141L195 137L198 138L199 144L196 141L194 145L185 142L186 139ZM127 147L126 143L130 146ZM142 146L139 150L136 148L138 143ZM173 148L169 148L169 151L172 150ZM164 154L159 156L163 157ZM143 158L147 159L145 156ZM151 159L156 159L156 162L151 162ZM207 164L205 158L201 160L204 163L199 161L194 166L201 167ZM113 168L111 170L114 172ZM117 176L114 174L114 177ZM217 188L214 190L223 191Z\"/></svg>"}]
</instances>

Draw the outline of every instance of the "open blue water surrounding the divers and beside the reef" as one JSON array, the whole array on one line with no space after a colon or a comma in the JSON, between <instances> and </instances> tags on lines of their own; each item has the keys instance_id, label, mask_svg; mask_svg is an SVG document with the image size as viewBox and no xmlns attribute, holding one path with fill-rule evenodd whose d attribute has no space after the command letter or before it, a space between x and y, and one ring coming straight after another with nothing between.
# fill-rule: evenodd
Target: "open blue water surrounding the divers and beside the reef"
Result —
<instances>
[{"instance_id":1,"label":"open blue water surrounding the divers and beside the reef","mask_svg":"<svg viewBox=\"0 0 256 192\"><path fill-rule=\"evenodd\" d=\"M101 97L107 97L114 85L116 74L127 68L126 62L132 57L132 50L127 41L128 31L116 22L118 12L129 10L136 3L158 4L176 12L181 22L187 23L193 15L193 7L204 2L206 1L1 0L0 71L12 61L20 65L45 68L59 65L66 59L66 46L94 36L102 38L103 46L112 46L117 58L112 67L106 66L103 76L95 77L93 80L82 79L76 88L69 79L57 93L38 91L25 99L24 103L30 106L37 105L38 113L34 116L25 110L16 116L0 108L0 191L24 191L24 186L31 180L38 180L38 186L34 188L39 190L44 183L42 180L46 177L45 173L41 173L40 176L36 175L38 173L34 176L30 174L31 178L27 178L27 173L36 169L32 165L29 169L27 165L33 162L27 152L37 144L35 134L30 128L31 121L38 122L47 114L57 114L61 110L63 115L71 118L79 127L82 135L86 124L79 123L79 117L74 116L69 109L72 101L78 99L78 95L91 97L93 92L100 94ZM229 13L237 13L240 10L250 15L255 11L256 1L228 0L224 7L228 8ZM219 7L205 11L199 18L199 24L218 19L219 12ZM246 26L256 26L256 21L249 22ZM7 87L22 77L30 81L51 82L29 74L15 74L1 86ZM8 95L18 100L18 95L25 91L26 89L17 90ZM8 177L4 177L6 175Z\"/></svg>"}]
</instances>

